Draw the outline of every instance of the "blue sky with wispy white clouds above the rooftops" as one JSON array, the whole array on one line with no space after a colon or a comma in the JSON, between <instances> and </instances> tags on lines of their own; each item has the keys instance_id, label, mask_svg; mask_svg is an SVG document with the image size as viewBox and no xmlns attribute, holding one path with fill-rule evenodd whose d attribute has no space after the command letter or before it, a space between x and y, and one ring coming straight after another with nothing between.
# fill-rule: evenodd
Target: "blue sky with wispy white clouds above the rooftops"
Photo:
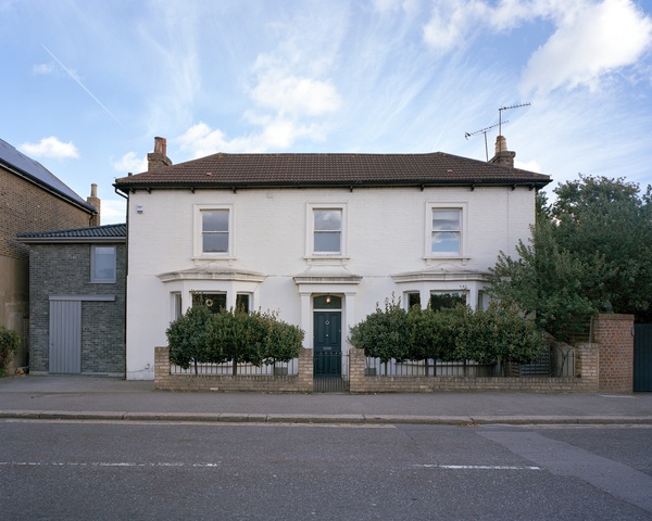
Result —
<instances>
[{"instance_id":1,"label":"blue sky with wispy white clouds above the rooftops","mask_svg":"<svg viewBox=\"0 0 652 521\"><path fill-rule=\"evenodd\" d=\"M652 183L652 0L0 0L0 138L84 198L98 183L102 224L155 136L174 163L485 161L465 135L525 103L502 112L516 166Z\"/></svg>"}]
</instances>

